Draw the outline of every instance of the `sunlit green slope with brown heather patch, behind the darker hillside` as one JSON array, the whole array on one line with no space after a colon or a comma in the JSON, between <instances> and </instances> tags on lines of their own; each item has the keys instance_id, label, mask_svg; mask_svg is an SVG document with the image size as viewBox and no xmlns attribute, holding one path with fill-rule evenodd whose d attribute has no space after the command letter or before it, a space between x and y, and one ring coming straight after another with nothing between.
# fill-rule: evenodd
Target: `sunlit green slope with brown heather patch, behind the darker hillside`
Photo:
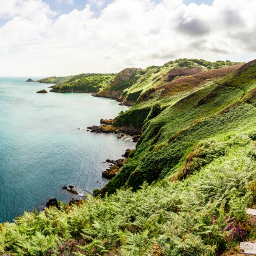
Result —
<instances>
[{"instance_id":1,"label":"sunlit green slope with brown heather patch, behind the darker hillside","mask_svg":"<svg viewBox=\"0 0 256 256\"><path fill-rule=\"evenodd\" d=\"M196 60L194 60L196 61ZM204 64L197 60L200 64ZM152 66L146 68L136 84L123 91L121 99L136 102L131 110L116 118L115 126L133 126L142 128L152 106L158 102L162 110L175 104L185 96L211 84L220 78L227 76L238 67L238 63L222 63L227 68L208 70L204 65L189 61L186 66L179 66L179 60L166 63L162 67ZM216 68L212 63L212 68ZM209 65L208 65L209 66ZM222 65L225 67L225 65ZM207 71L207 72L203 72ZM203 73L201 73L203 72ZM198 73L196 75L196 73ZM201 73L201 74L200 74ZM168 79L174 76L174 80ZM184 77L183 77L184 76ZM178 79L177 79L178 78ZM168 91L169 90L169 91Z\"/></svg>"}]
</instances>

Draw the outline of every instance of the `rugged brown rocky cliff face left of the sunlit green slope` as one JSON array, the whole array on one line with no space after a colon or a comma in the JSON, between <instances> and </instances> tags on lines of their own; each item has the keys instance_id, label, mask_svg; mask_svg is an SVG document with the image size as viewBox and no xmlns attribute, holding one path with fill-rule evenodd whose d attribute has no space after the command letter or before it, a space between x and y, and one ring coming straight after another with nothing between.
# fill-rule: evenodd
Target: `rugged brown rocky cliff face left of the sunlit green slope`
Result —
<instances>
[{"instance_id":1,"label":"rugged brown rocky cliff face left of the sunlit green slope","mask_svg":"<svg viewBox=\"0 0 256 256\"><path fill-rule=\"evenodd\" d=\"M122 70L115 79L107 86L106 89L99 91L95 94L95 97L106 97L112 99L119 99L123 89L128 88L133 85L137 72L140 71L138 68L125 68Z\"/></svg>"}]
</instances>

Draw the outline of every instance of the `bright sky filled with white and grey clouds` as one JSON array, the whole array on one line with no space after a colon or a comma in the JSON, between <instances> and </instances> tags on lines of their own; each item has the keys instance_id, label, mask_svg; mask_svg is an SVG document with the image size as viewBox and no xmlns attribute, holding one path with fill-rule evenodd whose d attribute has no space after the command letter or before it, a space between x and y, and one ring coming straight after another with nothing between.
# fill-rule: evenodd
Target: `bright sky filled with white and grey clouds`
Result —
<instances>
[{"instance_id":1,"label":"bright sky filled with white and grey clouds","mask_svg":"<svg viewBox=\"0 0 256 256\"><path fill-rule=\"evenodd\" d=\"M256 0L0 0L0 76L256 58Z\"/></svg>"}]
</instances>

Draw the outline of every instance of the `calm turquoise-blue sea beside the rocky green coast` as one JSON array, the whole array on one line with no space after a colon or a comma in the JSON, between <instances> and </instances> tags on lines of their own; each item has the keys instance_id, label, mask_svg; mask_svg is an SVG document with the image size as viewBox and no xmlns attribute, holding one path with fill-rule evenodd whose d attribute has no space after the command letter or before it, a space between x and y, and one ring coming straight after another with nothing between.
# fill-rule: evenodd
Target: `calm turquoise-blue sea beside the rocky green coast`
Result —
<instances>
[{"instance_id":1,"label":"calm turquoise-blue sea beside the rocky green coast","mask_svg":"<svg viewBox=\"0 0 256 256\"><path fill-rule=\"evenodd\" d=\"M26 79L0 77L0 223L42 210L50 198L67 202L102 188L108 181L102 162L135 148L130 138L86 131L124 110L118 102L84 93L39 94L50 85ZM64 191L65 185L80 195Z\"/></svg>"}]
</instances>

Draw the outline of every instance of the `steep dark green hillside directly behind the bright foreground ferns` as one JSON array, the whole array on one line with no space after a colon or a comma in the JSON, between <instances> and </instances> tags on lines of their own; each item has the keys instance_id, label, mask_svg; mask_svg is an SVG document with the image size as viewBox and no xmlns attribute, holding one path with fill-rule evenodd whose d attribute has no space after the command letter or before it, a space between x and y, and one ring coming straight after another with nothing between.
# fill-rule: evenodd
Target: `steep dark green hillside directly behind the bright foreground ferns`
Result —
<instances>
[{"instance_id":1,"label":"steep dark green hillside directly behind the bright foreground ferns","mask_svg":"<svg viewBox=\"0 0 256 256\"><path fill-rule=\"evenodd\" d=\"M244 96L256 86L251 77L256 72L255 62L243 65L219 83L193 92L149 120L143 127L133 159L101 193L113 193L124 185L136 190L144 181L152 183L168 173L175 174L201 139L233 129L243 130L248 123L254 123L255 108L245 104L248 97ZM231 86L235 76L243 77L246 82Z\"/></svg>"}]
</instances>

